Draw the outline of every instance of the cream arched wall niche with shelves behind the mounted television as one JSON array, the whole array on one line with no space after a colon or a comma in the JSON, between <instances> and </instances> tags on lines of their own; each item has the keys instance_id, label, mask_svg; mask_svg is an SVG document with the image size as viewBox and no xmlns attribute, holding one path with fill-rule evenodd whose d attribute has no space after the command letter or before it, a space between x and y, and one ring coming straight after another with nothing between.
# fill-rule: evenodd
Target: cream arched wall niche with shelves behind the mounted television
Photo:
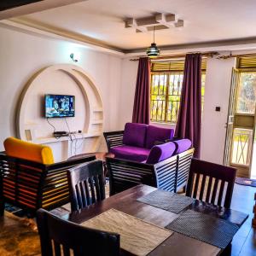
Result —
<instances>
[{"instance_id":1,"label":"cream arched wall niche with shelves behind the mounted television","mask_svg":"<svg viewBox=\"0 0 256 256\"><path fill-rule=\"evenodd\" d=\"M55 131L82 131L69 137L56 139L53 127L44 117L45 94L74 95L75 117L49 119ZM81 67L60 64L45 67L32 75L21 93L16 114L17 136L40 144L49 144L55 159L63 160L81 152L95 152L103 131L103 108L100 92L88 73ZM77 150L79 143L79 150Z\"/></svg>"}]
</instances>

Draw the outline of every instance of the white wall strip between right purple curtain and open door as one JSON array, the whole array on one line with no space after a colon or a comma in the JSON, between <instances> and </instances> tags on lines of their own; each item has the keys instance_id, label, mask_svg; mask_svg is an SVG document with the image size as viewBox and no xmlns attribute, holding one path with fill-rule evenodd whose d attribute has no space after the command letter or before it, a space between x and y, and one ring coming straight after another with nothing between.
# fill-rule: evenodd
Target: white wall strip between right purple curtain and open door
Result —
<instances>
[{"instance_id":1,"label":"white wall strip between right purple curtain and open door","mask_svg":"<svg viewBox=\"0 0 256 256\"><path fill-rule=\"evenodd\" d=\"M208 59L205 104L201 125L201 159L223 163L230 82L235 59ZM215 111L220 107L220 112Z\"/></svg>"}]
</instances>

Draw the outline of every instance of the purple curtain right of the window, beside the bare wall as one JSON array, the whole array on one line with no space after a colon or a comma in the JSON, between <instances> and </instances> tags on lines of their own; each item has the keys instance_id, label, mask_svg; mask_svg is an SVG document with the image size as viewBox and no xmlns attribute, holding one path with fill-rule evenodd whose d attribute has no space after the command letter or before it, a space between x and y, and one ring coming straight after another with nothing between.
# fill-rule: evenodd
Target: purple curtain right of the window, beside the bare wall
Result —
<instances>
[{"instance_id":1,"label":"purple curtain right of the window, beside the bare wall","mask_svg":"<svg viewBox=\"0 0 256 256\"><path fill-rule=\"evenodd\" d=\"M175 136L189 138L200 158L201 147L201 54L186 55L182 96Z\"/></svg>"}]
</instances>

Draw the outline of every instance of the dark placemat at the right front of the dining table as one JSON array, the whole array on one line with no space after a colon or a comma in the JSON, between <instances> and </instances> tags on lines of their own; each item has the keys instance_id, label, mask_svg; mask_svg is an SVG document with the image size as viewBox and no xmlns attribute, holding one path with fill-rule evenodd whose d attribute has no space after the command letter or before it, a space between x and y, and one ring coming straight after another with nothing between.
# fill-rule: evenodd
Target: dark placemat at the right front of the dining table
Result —
<instances>
[{"instance_id":1,"label":"dark placemat at the right front of the dining table","mask_svg":"<svg viewBox=\"0 0 256 256\"><path fill-rule=\"evenodd\" d=\"M223 249L239 229L236 224L224 219L192 210L183 212L166 228Z\"/></svg>"}]
</instances>

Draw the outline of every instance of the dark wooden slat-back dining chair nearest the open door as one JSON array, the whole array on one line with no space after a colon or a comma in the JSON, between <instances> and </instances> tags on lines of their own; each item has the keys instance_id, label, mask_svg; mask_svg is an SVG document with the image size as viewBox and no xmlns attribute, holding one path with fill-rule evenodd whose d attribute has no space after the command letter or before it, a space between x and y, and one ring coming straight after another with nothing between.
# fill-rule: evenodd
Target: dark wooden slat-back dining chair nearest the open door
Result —
<instances>
[{"instance_id":1,"label":"dark wooden slat-back dining chair nearest the open door","mask_svg":"<svg viewBox=\"0 0 256 256\"><path fill-rule=\"evenodd\" d=\"M235 178L236 168L192 159L186 195L230 208Z\"/></svg>"}]
</instances>

